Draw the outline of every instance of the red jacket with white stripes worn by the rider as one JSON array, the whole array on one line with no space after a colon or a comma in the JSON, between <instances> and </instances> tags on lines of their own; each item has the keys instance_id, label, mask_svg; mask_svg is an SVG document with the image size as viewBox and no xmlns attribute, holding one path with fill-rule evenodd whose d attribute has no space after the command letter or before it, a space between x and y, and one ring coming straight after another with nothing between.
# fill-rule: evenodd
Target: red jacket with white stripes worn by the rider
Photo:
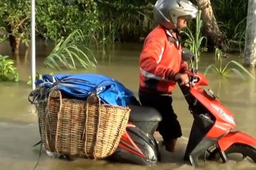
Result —
<instances>
[{"instance_id":1,"label":"red jacket with white stripes worn by the rider","mask_svg":"<svg viewBox=\"0 0 256 170\"><path fill-rule=\"evenodd\" d=\"M185 64L181 60L181 42L176 44L167 30L158 26L147 35L139 58L139 91L171 94L175 75Z\"/></svg>"}]
</instances>

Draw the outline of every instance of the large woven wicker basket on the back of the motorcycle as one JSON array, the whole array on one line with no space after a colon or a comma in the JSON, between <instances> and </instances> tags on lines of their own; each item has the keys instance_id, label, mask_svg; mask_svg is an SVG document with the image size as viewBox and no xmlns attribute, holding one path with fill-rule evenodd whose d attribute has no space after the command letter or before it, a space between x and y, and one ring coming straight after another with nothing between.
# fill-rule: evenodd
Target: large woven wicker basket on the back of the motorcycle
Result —
<instances>
[{"instance_id":1,"label":"large woven wicker basket on the back of the motorcycle","mask_svg":"<svg viewBox=\"0 0 256 170\"><path fill-rule=\"evenodd\" d=\"M38 103L43 145L60 154L105 158L117 148L129 112L128 107L100 103L95 94L80 101L51 91L47 101Z\"/></svg>"}]
</instances>

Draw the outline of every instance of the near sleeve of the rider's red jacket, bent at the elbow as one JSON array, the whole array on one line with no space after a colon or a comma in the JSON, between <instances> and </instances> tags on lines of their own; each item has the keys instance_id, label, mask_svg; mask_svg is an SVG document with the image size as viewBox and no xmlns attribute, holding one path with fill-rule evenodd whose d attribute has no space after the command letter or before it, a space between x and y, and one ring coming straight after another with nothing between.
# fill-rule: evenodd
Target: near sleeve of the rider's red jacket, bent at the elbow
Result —
<instances>
[{"instance_id":1,"label":"near sleeve of the rider's red jacket, bent at the elbow","mask_svg":"<svg viewBox=\"0 0 256 170\"><path fill-rule=\"evenodd\" d=\"M158 80L174 80L176 72L160 64L164 53L164 42L156 38L146 39L139 59L140 71L144 77Z\"/></svg>"}]
</instances>

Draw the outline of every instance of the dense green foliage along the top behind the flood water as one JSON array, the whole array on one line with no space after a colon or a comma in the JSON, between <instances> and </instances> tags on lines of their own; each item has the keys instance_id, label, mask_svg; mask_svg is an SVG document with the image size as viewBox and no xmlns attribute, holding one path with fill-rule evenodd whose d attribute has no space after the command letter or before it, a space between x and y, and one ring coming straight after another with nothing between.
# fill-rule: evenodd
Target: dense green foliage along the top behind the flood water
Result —
<instances>
[{"instance_id":1,"label":"dense green foliage along the top behind the flood water","mask_svg":"<svg viewBox=\"0 0 256 170\"><path fill-rule=\"evenodd\" d=\"M97 40L99 45L139 41L155 26L152 14L154 3L155 0L37 0L36 33L54 42L77 29L91 36L87 42ZM242 47L245 42L247 1L212 0L211 4L229 45ZM4 28L11 27L12 34L27 43L30 38L30 15L30 0L1 0L0 40L7 38Z\"/></svg>"}]
</instances>

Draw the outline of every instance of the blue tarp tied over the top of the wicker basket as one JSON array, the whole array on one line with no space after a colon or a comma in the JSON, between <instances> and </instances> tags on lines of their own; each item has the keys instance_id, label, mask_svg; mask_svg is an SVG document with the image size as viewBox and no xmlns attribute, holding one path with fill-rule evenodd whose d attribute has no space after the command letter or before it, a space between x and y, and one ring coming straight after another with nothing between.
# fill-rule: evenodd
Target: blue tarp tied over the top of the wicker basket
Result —
<instances>
[{"instance_id":1,"label":"blue tarp tied over the top of the wicker basket","mask_svg":"<svg viewBox=\"0 0 256 170\"><path fill-rule=\"evenodd\" d=\"M127 106L134 98L132 91L119 81L101 74L44 74L42 79L36 81L36 86L59 89L78 99L85 99L96 93L103 103L117 106Z\"/></svg>"}]
</instances>

